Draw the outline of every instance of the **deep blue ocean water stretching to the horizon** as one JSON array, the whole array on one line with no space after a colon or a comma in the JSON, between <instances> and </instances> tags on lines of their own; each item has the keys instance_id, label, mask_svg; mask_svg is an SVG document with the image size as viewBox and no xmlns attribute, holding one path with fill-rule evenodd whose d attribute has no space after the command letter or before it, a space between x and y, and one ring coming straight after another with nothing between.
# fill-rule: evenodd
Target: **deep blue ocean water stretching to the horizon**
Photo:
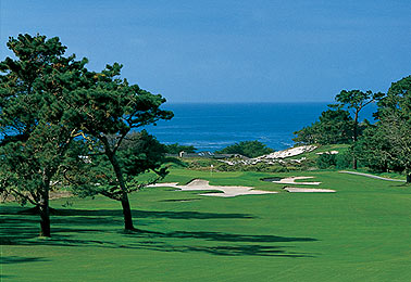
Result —
<instances>
[{"instance_id":1,"label":"deep blue ocean water stretching to the horizon","mask_svg":"<svg viewBox=\"0 0 411 282\"><path fill-rule=\"evenodd\" d=\"M315 121L328 103L165 104L174 112L146 129L165 144L216 151L239 141L259 140L274 150L294 144L292 132ZM372 120L373 106L361 118Z\"/></svg>"}]
</instances>

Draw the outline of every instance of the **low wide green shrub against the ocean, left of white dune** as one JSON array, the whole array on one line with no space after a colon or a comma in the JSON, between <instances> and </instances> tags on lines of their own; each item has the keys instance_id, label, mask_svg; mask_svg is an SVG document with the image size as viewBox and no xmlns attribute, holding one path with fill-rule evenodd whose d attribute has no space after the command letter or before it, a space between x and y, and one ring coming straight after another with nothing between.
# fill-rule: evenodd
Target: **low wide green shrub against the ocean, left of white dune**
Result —
<instances>
[{"instance_id":1,"label":"low wide green shrub against the ocean, left of white dune","mask_svg":"<svg viewBox=\"0 0 411 282\"><path fill-rule=\"evenodd\" d=\"M274 150L267 148L265 144L258 140L254 141L241 141L233 145L226 146L220 151L219 154L240 154L247 157L257 157L273 153Z\"/></svg>"}]
</instances>

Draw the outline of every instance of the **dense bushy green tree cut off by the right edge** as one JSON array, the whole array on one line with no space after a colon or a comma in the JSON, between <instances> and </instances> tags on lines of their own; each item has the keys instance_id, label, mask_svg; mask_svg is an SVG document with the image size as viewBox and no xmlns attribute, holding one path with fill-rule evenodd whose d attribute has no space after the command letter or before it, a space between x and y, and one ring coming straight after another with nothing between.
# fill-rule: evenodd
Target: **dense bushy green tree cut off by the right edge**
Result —
<instances>
[{"instance_id":1,"label":"dense bushy green tree cut off by the right edge","mask_svg":"<svg viewBox=\"0 0 411 282\"><path fill-rule=\"evenodd\" d=\"M391 85L376 117L357 148L359 157L378 171L403 171L411 181L411 76Z\"/></svg>"}]
</instances>

